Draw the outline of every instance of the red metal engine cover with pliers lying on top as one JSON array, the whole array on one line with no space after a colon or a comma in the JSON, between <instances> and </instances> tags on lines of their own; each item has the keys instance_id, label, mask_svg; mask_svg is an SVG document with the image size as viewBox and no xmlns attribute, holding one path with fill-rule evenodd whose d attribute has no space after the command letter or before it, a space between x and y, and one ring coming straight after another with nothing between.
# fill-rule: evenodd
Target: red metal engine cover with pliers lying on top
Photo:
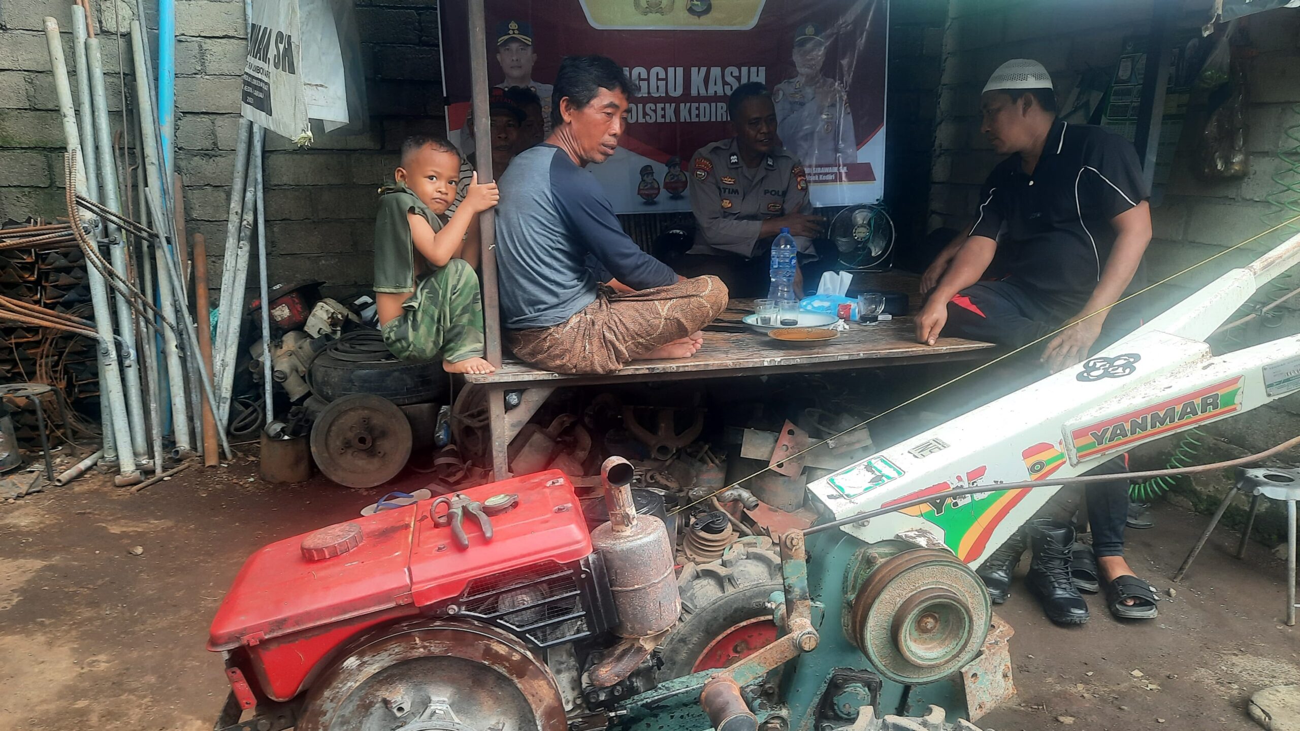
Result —
<instances>
[{"instance_id":1,"label":"red metal engine cover with pliers lying on top","mask_svg":"<svg viewBox=\"0 0 1300 731\"><path fill-rule=\"evenodd\" d=\"M450 525L434 524L433 499L270 544L235 576L212 620L208 649L243 648L251 662L244 670L260 689L289 700L322 659L363 630L437 613L472 579L592 553L582 510L563 472L462 492L480 503L517 494L519 503L491 518L490 541L467 512L468 549L456 544Z\"/></svg>"}]
</instances>

